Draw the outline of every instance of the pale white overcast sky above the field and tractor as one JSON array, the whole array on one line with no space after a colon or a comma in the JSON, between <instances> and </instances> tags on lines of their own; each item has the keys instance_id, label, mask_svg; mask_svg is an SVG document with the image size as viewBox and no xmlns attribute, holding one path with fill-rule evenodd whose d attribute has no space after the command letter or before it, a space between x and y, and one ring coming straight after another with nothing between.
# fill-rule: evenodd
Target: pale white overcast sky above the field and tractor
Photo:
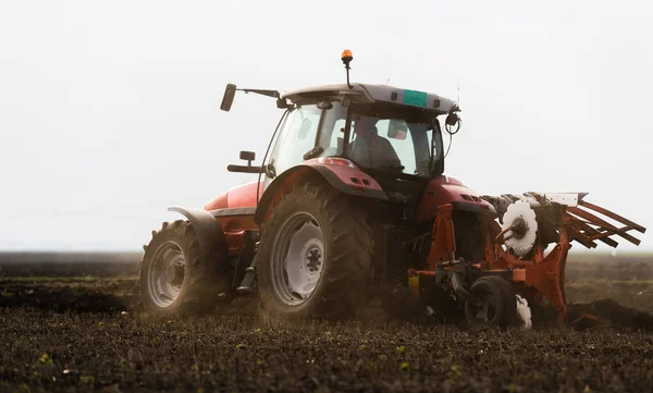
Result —
<instances>
[{"instance_id":1,"label":"pale white overcast sky above the field and tractor","mask_svg":"<svg viewBox=\"0 0 653 393\"><path fill-rule=\"evenodd\" d=\"M0 2L0 249L139 249L182 218L169 206L256 180L226 165L260 162L282 111L242 94L221 111L227 83L344 83L343 49L355 82L459 100L445 168L478 193L589 192L651 228L652 8Z\"/></svg>"}]
</instances>

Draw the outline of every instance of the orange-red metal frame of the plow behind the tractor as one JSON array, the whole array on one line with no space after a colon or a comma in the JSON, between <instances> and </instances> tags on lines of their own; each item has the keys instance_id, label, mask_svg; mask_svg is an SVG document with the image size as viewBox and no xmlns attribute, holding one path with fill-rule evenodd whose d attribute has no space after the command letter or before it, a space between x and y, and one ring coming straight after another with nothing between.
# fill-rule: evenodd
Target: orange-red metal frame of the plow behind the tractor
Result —
<instances>
[{"instance_id":1,"label":"orange-red metal frame of the plow behind the tractor","mask_svg":"<svg viewBox=\"0 0 653 393\"><path fill-rule=\"evenodd\" d=\"M582 200L576 207L563 206L562 208L556 245L544 255L544 246L537 242L533 250L526 258L519 258L504 249L503 243L506 240L504 235L510 231L510 228L496 233L496 223L488 216L481 217L481 230L485 234L485 260L480 261L479 266L485 270L512 269L513 281L534 287L538 302L542 296L546 297L557 311L558 323L565 326L567 319L565 267L571 247L570 242L577 241L588 248L594 248L595 241L601 241L616 247L618 243L612 236L620 236L639 245L640 241L628 231L644 233L646 229L607 209ZM431 249L427 258L429 270L410 271L409 275L432 275L440 262L454 262L456 242L452 210L452 205L438 208L433 222ZM600 218L597 213L606 219ZM607 219L616 223L612 224Z\"/></svg>"}]
</instances>

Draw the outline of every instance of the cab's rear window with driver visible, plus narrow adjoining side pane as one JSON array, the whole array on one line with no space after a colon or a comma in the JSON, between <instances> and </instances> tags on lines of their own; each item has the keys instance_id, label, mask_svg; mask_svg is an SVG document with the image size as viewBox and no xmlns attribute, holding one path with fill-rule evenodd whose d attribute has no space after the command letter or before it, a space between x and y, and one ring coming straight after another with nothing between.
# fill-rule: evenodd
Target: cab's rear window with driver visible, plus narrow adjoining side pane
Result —
<instances>
[{"instance_id":1,"label":"cab's rear window with driver visible, plus narrow adjoining side pane","mask_svg":"<svg viewBox=\"0 0 653 393\"><path fill-rule=\"evenodd\" d=\"M356 106L347 145L343 146L346 111L334 105L325 115L320 145L330 148L322 156L343 155L366 169L431 175L434 162L442 157L440 127L432 114L397 105Z\"/></svg>"}]
</instances>

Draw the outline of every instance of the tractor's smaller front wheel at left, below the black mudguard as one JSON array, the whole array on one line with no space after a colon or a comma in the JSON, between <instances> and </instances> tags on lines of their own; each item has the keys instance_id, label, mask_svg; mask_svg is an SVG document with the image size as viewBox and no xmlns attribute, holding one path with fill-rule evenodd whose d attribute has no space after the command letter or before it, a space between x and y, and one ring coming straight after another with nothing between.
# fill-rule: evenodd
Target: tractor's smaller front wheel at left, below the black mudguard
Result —
<instances>
[{"instance_id":1,"label":"tractor's smaller front wheel at left, below the black mudguard","mask_svg":"<svg viewBox=\"0 0 653 393\"><path fill-rule=\"evenodd\" d=\"M152 231L140 266L140 300L157 315L202 314L231 287L231 274L201 260L197 235L187 221L164 222Z\"/></svg>"}]
</instances>

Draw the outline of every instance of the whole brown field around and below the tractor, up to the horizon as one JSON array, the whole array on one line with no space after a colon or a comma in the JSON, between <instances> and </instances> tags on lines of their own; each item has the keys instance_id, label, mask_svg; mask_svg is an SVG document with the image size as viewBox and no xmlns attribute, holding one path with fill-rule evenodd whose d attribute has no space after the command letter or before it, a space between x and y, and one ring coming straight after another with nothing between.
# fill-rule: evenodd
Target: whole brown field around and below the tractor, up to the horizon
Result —
<instances>
[{"instance_id":1,"label":"whole brown field around and below the tractor, up to the horizon","mask_svg":"<svg viewBox=\"0 0 653 393\"><path fill-rule=\"evenodd\" d=\"M0 256L0 391L616 392L653 381L650 255L571 258L572 311L618 322L582 331L468 330L373 310L291 324L248 299L157 319L136 307L134 257Z\"/></svg>"}]
</instances>

